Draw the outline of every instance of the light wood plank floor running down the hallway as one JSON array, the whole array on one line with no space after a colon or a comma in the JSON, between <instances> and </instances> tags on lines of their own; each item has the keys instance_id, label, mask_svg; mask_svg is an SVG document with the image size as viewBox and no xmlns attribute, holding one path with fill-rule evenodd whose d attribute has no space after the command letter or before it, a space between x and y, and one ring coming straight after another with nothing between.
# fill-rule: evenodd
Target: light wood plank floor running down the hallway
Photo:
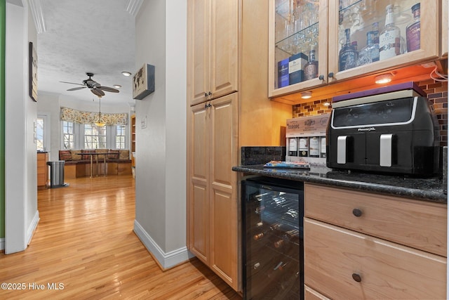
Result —
<instances>
[{"instance_id":1,"label":"light wood plank floor running down the hallway","mask_svg":"<svg viewBox=\"0 0 449 300\"><path fill-rule=\"evenodd\" d=\"M241 299L197 259L161 271L133 233L132 176L66 181L38 191L25 252L0 253L0 283L25 287L0 289L0 299Z\"/></svg>"}]
</instances>

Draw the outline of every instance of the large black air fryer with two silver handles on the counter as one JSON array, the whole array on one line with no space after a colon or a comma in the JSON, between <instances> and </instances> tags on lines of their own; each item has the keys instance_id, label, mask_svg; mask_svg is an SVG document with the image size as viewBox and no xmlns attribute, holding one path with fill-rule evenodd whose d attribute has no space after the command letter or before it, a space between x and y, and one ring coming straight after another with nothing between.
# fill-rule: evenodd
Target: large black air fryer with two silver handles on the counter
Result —
<instances>
[{"instance_id":1,"label":"large black air fryer with two silver handles on the counter","mask_svg":"<svg viewBox=\"0 0 449 300\"><path fill-rule=\"evenodd\" d=\"M330 168L417 175L439 171L436 115L413 83L334 97L326 136Z\"/></svg>"}]
</instances>

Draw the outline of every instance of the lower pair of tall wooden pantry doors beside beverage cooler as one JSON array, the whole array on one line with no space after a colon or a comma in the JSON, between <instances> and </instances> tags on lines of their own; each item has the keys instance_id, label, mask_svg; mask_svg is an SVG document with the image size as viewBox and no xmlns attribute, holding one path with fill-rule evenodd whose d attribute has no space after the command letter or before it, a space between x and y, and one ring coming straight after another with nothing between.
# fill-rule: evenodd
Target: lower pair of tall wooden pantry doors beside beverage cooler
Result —
<instances>
[{"instance_id":1,"label":"lower pair of tall wooden pantry doors beside beverage cooler","mask_svg":"<svg viewBox=\"0 0 449 300\"><path fill-rule=\"evenodd\" d=\"M239 289L237 93L191 107L188 135L189 250Z\"/></svg>"}]
</instances>

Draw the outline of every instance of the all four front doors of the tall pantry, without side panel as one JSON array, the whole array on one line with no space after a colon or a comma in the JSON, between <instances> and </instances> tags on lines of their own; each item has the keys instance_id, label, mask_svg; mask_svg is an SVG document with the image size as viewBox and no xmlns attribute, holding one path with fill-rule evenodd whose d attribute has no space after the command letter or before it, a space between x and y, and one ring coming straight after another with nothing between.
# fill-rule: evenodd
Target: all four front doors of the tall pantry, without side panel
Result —
<instances>
[{"instance_id":1,"label":"all four front doors of the tall pantry, without side panel","mask_svg":"<svg viewBox=\"0 0 449 300\"><path fill-rule=\"evenodd\" d=\"M239 289L239 0L189 0L187 247Z\"/></svg>"}]
</instances>

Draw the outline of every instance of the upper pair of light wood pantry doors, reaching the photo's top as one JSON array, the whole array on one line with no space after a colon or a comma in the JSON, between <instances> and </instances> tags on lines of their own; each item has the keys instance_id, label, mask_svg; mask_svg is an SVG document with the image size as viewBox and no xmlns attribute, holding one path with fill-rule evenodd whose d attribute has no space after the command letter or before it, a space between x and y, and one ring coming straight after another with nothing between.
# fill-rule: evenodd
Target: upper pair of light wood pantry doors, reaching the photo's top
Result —
<instances>
[{"instance_id":1,"label":"upper pair of light wood pantry doors, reaching the photo's top","mask_svg":"<svg viewBox=\"0 0 449 300\"><path fill-rule=\"evenodd\" d=\"M189 105L237 91L239 7L239 0L188 1Z\"/></svg>"}]
</instances>

